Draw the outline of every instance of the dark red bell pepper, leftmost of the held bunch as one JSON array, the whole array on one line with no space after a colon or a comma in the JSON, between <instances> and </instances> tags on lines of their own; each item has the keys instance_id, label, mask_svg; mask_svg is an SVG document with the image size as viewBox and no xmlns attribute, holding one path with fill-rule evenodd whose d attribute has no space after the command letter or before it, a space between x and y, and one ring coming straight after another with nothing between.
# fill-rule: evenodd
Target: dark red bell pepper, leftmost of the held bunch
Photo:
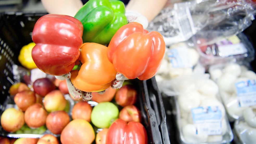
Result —
<instances>
[{"instance_id":1,"label":"dark red bell pepper, leftmost of the held bunch","mask_svg":"<svg viewBox=\"0 0 256 144\"><path fill-rule=\"evenodd\" d=\"M82 35L82 23L71 16L48 14L39 18L32 34L36 66L55 76L69 73L79 58Z\"/></svg>"}]
</instances>

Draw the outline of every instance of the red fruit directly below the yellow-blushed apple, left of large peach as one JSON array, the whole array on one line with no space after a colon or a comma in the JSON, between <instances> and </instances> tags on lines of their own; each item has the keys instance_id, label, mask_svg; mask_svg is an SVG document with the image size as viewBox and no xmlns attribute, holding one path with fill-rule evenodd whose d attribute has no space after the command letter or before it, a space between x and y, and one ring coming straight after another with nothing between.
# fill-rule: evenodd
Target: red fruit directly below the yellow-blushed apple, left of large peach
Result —
<instances>
[{"instance_id":1,"label":"red fruit directly below the yellow-blushed apple, left of large peach","mask_svg":"<svg viewBox=\"0 0 256 144\"><path fill-rule=\"evenodd\" d=\"M53 134L60 134L61 131L70 122L70 117L65 111L51 112L46 118L46 127Z\"/></svg>"}]
</instances>

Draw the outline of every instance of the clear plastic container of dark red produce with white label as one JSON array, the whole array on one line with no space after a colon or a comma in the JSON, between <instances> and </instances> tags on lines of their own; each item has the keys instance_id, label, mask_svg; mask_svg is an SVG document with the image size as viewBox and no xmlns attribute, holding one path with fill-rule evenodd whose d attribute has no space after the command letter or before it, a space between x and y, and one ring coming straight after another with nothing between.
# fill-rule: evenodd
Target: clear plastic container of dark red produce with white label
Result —
<instances>
[{"instance_id":1,"label":"clear plastic container of dark red produce with white label","mask_svg":"<svg viewBox=\"0 0 256 144\"><path fill-rule=\"evenodd\" d=\"M243 33L202 45L201 43L204 41L207 40L195 40L194 43L200 54L199 62L205 67L229 62L233 59L248 62L254 59L255 50Z\"/></svg>"}]
</instances>

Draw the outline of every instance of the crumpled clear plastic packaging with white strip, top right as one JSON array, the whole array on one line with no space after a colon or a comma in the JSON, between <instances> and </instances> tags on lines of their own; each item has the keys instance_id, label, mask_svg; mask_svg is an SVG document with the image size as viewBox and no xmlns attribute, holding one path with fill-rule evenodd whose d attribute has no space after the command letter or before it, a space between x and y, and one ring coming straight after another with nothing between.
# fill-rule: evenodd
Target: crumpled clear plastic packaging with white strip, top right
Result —
<instances>
[{"instance_id":1,"label":"crumpled clear plastic packaging with white strip, top right","mask_svg":"<svg viewBox=\"0 0 256 144\"><path fill-rule=\"evenodd\" d=\"M250 0L193 0L163 9L149 23L148 30L160 32L166 45L186 41L193 35L196 42L205 45L243 31L251 25L254 14L255 4Z\"/></svg>"}]
</instances>

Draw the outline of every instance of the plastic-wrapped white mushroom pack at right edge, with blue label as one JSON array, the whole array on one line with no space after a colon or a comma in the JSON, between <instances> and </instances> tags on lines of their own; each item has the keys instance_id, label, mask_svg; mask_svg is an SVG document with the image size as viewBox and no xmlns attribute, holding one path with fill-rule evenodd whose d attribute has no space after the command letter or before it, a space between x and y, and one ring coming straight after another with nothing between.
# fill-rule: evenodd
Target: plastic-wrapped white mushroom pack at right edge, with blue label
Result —
<instances>
[{"instance_id":1,"label":"plastic-wrapped white mushroom pack at right edge, with blue label","mask_svg":"<svg viewBox=\"0 0 256 144\"><path fill-rule=\"evenodd\" d=\"M256 74L247 62L229 62L209 68L211 79L220 88L220 96L229 121L238 120L243 111L256 105Z\"/></svg>"}]
</instances>

